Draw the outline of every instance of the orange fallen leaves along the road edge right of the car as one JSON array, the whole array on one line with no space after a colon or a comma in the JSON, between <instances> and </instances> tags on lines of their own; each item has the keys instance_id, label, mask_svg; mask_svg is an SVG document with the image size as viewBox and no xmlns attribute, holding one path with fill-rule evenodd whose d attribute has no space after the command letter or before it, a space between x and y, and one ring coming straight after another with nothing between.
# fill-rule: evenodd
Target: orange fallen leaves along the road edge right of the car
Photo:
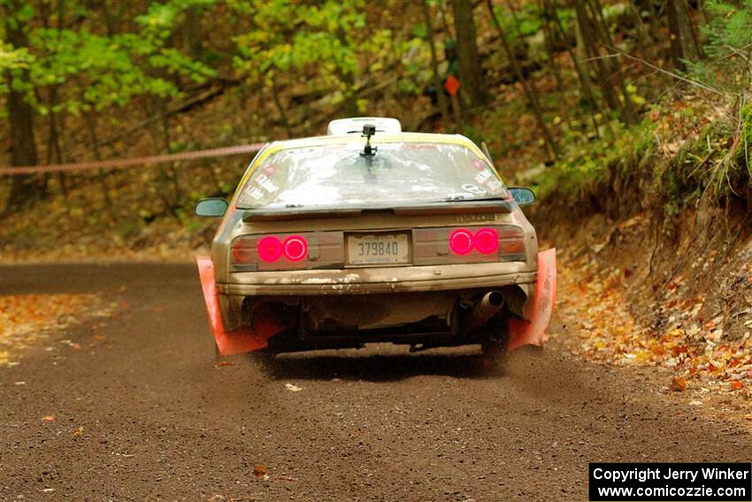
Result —
<instances>
[{"instance_id":1,"label":"orange fallen leaves along the road edge right of the car","mask_svg":"<svg viewBox=\"0 0 752 502\"><path fill-rule=\"evenodd\" d=\"M695 391L700 397L732 395L745 404L752 420L752 334L724 336L722 316L710 321L700 315L702 297L672 299L681 278L668 285L664 312L671 313L663 329L648 328L629 312L619 292L618 271L602 274L586 259L566 260L558 267L558 310L564 333L552 334L582 359L615 366L663 367L670 373L665 388ZM694 395L691 405L700 405ZM738 410L740 411L740 410Z\"/></svg>"}]
</instances>

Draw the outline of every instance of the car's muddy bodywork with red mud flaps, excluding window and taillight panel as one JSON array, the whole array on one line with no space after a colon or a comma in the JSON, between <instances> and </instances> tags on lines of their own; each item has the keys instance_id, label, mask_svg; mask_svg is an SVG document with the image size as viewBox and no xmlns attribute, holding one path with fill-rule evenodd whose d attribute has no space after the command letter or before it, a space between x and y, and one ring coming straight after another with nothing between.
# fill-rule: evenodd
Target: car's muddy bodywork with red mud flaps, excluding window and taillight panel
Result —
<instances>
[{"instance_id":1,"label":"car's muddy bodywork with red mud flaps, excluding window and taillight panel","mask_svg":"<svg viewBox=\"0 0 752 502\"><path fill-rule=\"evenodd\" d=\"M461 145L484 159L495 171L487 156L461 135L380 133L374 138L378 139L378 144L415 142ZM272 214L271 218L238 207L242 187L256 169L264 165L266 158L285 149L326 147L340 143L362 144L364 140L358 135L350 134L270 143L257 153L243 174L212 241L211 258L197 257L204 299L220 353L266 348L269 339L298 322L286 317L287 314L280 313L280 308L296 309L295 312L304 312L311 318L306 321L305 329L297 328L301 331L298 336L303 336L303 331L326 334L326 323L333 321L338 328L328 333L332 335L331 340L344 334L349 336L349 343L360 340L358 336L362 336L363 340L368 341L397 339L395 343L412 344L413 340L421 339L419 336L431 336L431 333L419 333L411 337L412 334L407 333L410 329L405 328L406 337L395 338L385 331L402 324L410 325L412 314L417 318L445 321L443 327L437 325L437 330L441 333L435 339L441 340L441 344L463 344L466 341L457 336L454 327L457 303L467 304L471 300L477 302L480 295L491 290L503 291L507 300L505 308L516 318L514 323L510 323L513 338L510 346L545 342L545 328L553 305L550 287L553 284L555 288L556 284L556 263L555 259L552 262L550 258L539 257L535 229L513 200L496 205L465 201L436 207L364 207L362 210L358 208L357 214L333 214L328 211L318 214L297 209L287 212L283 208L279 214ZM497 173L496 175L498 176ZM500 176L498 179L501 181ZM342 263L341 266L327 268L265 271L242 269L230 263L232 243L241 236L328 231L349 235L391 231L412 236L410 245L413 249L416 243L415 232L420 229L496 225L515 226L523 232L525 251L515 261L413 265L411 260L407 264L389 266ZM549 254L541 253L541 256L549 257ZM540 263L546 267L542 276L538 270ZM543 290L541 284L545 285ZM539 290L545 294L536 294ZM247 312L249 308L250 313ZM350 319L352 312L359 313L357 320ZM253 320L250 322L252 326L249 325L249 315ZM351 322L354 324L350 324ZM303 339L299 341L301 347L306 346Z\"/></svg>"}]
</instances>

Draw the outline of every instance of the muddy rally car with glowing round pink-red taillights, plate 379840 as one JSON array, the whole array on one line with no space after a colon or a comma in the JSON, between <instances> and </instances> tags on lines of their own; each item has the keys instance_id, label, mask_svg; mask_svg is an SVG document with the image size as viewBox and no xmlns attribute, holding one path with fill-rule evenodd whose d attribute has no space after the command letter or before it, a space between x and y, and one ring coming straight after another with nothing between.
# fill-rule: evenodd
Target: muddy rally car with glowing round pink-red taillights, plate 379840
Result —
<instances>
[{"instance_id":1,"label":"muddy rally car with glowing round pink-red taillights, plate 379840","mask_svg":"<svg viewBox=\"0 0 752 502\"><path fill-rule=\"evenodd\" d=\"M520 209L533 200L485 145L395 119L269 143L230 202L196 204L222 218L196 257L219 353L542 345L556 259Z\"/></svg>"}]
</instances>

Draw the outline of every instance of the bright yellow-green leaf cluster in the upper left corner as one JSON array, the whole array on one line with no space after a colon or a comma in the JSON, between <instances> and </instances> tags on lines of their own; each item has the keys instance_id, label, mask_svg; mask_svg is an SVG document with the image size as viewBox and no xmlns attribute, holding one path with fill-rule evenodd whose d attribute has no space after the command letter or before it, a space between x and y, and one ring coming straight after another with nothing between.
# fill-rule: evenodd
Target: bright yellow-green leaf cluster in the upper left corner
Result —
<instances>
[{"instance_id":1,"label":"bright yellow-green leaf cluster in the upper left corner","mask_svg":"<svg viewBox=\"0 0 752 502\"><path fill-rule=\"evenodd\" d=\"M19 11L25 17L34 15L29 5ZM0 70L7 70L12 78L11 87L0 92L24 92L42 115L102 111L143 95L176 96L180 90L171 76L200 82L214 74L168 46L180 9L189 5L185 0L150 4L148 12L135 18L140 29L134 33L107 36L87 27L34 27L28 33L29 47L3 44ZM10 27L18 19L19 14L4 20ZM40 89L50 86L57 86L61 97L51 109L37 98Z\"/></svg>"}]
</instances>

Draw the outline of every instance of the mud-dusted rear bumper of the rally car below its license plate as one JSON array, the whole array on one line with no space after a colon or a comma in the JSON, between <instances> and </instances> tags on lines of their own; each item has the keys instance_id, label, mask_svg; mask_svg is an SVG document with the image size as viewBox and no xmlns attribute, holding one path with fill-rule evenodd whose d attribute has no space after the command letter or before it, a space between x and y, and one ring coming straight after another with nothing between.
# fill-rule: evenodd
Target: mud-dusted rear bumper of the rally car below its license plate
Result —
<instances>
[{"instance_id":1,"label":"mud-dusted rear bumper of the rally car below its license plate","mask_svg":"<svg viewBox=\"0 0 752 502\"><path fill-rule=\"evenodd\" d=\"M494 288L536 280L537 271L525 262L509 262L242 272L230 274L230 282L218 283L217 290L231 296L366 295Z\"/></svg>"}]
</instances>

